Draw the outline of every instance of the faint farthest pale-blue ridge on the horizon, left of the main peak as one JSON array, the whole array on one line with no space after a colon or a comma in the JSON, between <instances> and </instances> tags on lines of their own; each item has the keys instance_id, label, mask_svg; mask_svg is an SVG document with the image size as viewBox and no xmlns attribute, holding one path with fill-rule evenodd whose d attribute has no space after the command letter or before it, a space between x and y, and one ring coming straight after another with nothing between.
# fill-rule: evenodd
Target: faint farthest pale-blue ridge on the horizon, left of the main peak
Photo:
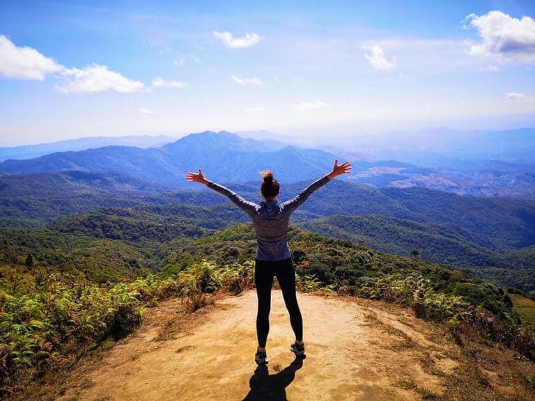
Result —
<instances>
[{"instance_id":1,"label":"faint farthest pale-blue ridge on the horizon, left of the main peak","mask_svg":"<svg viewBox=\"0 0 535 401\"><path fill-rule=\"evenodd\" d=\"M7 146L0 148L0 162L7 159L33 159L54 152L75 152L90 148L104 146L137 146L139 148L152 148L162 146L174 141L171 136L95 136L90 138L68 139L52 143L39 143L38 145Z\"/></svg>"}]
</instances>

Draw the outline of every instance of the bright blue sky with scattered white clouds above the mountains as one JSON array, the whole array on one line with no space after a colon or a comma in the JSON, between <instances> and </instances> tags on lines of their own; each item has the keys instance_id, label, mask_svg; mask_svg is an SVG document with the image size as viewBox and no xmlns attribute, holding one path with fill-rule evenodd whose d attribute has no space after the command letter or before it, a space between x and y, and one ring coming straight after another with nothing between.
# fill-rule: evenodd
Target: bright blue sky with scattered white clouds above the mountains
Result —
<instances>
[{"instance_id":1,"label":"bright blue sky with scattered white clouds above the mountains","mask_svg":"<svg viewBox=\"0 0 535 401\"><path fill-rule=\"evenodd\" d=\"M535 2L0 0L0 146L535 127Z\"/></svg>"}]
</instances>

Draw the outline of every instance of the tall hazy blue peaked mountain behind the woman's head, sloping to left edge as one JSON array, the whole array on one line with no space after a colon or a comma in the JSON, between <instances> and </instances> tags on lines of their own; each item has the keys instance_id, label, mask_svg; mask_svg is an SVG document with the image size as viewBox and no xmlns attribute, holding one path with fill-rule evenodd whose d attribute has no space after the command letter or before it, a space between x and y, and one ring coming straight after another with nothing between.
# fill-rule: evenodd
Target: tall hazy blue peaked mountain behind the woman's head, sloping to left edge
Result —
<instances>
[{"instance_id":1,"label":"tall hazy blue peaked mountain behind the woman's head, sloping to left edge","mask_svg":"<svg viewBox=\"0 0 535 401\"><path fill-rule=\"evenodd\" d=\"M80 152L56 152L29 160L6 160L1 173L54 171L121 173L184 187L185 173L201 167L222 182L258 180L271 169L281 182L319 177L332 168L335 156L321 150L284 146L277 141L244 139L230 132L190 134L160 148L106 146Z\"/></svg>"}]
</instances>

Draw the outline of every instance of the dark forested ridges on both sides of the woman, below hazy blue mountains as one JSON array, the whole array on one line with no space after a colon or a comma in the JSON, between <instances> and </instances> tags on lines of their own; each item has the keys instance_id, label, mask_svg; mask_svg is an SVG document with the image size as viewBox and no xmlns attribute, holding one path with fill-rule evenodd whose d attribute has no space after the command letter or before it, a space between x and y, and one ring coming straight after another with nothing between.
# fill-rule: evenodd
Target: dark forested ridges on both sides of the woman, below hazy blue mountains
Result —
<instances>
[{"instance_id":1,"label":"dark forested ridges on both sides of the woman, below hazy blue mountains","mask_svg":"<svg viewBox=\"0 0 535 401\"><path fill-rule=\"evenodd\" d=\"M295 196L309 182L283 185L279 198ZM258 202L257 185L229 187ZM111 173L1 176L0 212L4 227L49 227L131 241L195 237L247 221L214 191L177 190ZM378 189L335 180L313 194L292 221L389 253L410 256L417 251L423 260L471 269L474 276L525 293L535 290L529 253L535 243L534 201L470 198L423 188Z\"/></svg>"}]
</instances>

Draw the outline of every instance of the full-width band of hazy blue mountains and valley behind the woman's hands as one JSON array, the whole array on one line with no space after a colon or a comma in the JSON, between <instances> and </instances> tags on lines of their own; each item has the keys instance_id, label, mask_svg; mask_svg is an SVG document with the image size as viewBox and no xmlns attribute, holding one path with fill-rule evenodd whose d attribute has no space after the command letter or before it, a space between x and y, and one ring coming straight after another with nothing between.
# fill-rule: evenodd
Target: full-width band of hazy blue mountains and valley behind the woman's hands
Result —
<instances>
[{"instance_id":1,"label":"full-width band of hazy blue mountains and valley behind the woman's hands","mask_svg":"<svg viewBox=\"0 0 535 401\"><path fill-rule=\"evenodd\" d=\"M374 187L426 187L470 196L535 198L533 163L454 159L449 167L437 168L433 163L417 166L396 160L373 162L349 150L340 151L339 155L339 159L343 155L355 157L350 159L352 174L342 180ZM258 182L258 171L270 169L279 181L288 183L320 177L330 170L335 158L336 153L326 150L287 146L274 139L245 139L223 131L190 134L160 148L106 146L56 152L29 160L6 160L0 164L0 173L114 172L190 187L184 175L199 167L217 182Z\"/></svg>"}]
</instances>

